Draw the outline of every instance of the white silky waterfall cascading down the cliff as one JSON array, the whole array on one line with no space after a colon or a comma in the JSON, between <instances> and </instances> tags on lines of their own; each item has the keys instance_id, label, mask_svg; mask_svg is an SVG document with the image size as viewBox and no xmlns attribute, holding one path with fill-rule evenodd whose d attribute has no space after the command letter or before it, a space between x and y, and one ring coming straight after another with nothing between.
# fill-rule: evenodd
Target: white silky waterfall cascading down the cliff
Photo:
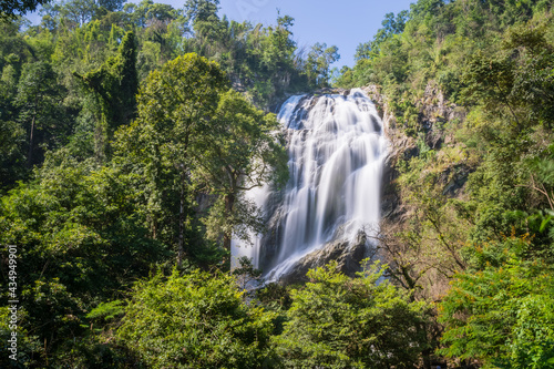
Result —
<instances>
[{"instance_id":1,"label":"white silky waterfall cascading down the cliff","mask_svg":"<svg viewBox=\"0 0 554 369\"><path fill-rule=\"evenodd\" d=\"M264 208L270 235L234 248L270 280L330 242L352 243L360 229L377 229L387 155L382 122L361 90L291 96L278 119L288 139L289 182L280 194L267 186L247 194Z\"/></svg>"}]
</instances>

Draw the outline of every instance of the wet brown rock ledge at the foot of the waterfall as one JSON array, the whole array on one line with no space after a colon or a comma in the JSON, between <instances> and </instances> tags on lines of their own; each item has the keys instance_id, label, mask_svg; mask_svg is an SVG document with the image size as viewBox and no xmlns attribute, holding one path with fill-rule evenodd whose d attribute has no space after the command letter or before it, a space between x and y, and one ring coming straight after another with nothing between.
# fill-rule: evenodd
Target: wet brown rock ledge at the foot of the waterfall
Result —
<instances>
[{"instance_id":1,"label":"wet brown rock ledge at the foot of the waterfall","mask_svg":"<svg viewBox=\"0 0 554 369\"><path fill-rule=\"evenodd\" d=\"M294 269L283 275L279 283L289 285L294 283L306 283L306 274L309 269L324 266L331 260L338 262L340 271L347 276L355 277L361 269L361 262L369 256L366 234L359 233L355 242L337 240L325 245L321 249L315 250L302 257Z\"/></svg>"}]
</instances>

